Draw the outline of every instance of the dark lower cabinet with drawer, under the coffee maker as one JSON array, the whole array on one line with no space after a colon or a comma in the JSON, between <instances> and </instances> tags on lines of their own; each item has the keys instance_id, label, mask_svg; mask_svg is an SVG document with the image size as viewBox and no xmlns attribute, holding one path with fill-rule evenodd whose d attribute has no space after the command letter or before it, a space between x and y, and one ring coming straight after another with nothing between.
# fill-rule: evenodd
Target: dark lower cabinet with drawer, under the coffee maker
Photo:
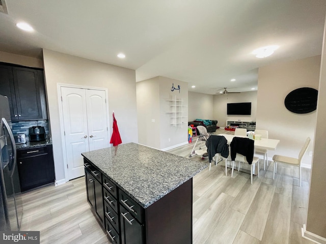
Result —
<instances>
[{"instance_id":1,"label":"dark lower cabinet with drawer, under the coffee maker","mask_svg":"<svg viewBox=\"0 0 326 244\"><path fill-rule=\"evenodd\" d=\"M18 149L17 166L22 192L55 181L52 145Z\"/></svg>"}]
</instances>

